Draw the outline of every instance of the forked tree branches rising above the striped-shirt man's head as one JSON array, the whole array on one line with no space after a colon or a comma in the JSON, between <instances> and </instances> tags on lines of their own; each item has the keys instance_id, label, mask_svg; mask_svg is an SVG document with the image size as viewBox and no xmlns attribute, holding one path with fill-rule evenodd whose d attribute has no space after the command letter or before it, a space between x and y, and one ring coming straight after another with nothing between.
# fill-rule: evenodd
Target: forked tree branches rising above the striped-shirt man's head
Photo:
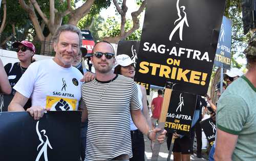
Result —
<instances>
[{"instance_id":1,"label":"forked tree branches rising above the striped-shirt man's head","mask_svg":"<svg viewBox=\"0 0 256 161\"><path fill-rule=\"evenodd\" d=\"M125 38L131 36L132 33L134 33L140 27L138 16L145 9L146 2L147 2L147 0L137 1L137 4L140 4L140 7L137 11L131 13L133 25L132 25L132 28L127 29L128 25L126 23L129 23L129 21L126 20L126 12L128 9L126 6L126 0L123 0L122 3L120 3L120 1L118 2L117 0L113 0L113 3L117 9L117 12L121 16L120 29L118 31L115 31L116 34L114 34L114 36L110 35L110 36L106 36L102 39L105 41L109 41L111 43L118 43L119 40L124 40ZM122 4L122 6L120 7L119 4ZM125 30L125 29L127 29L127 30Z\"/></svg>"}]
</instances>

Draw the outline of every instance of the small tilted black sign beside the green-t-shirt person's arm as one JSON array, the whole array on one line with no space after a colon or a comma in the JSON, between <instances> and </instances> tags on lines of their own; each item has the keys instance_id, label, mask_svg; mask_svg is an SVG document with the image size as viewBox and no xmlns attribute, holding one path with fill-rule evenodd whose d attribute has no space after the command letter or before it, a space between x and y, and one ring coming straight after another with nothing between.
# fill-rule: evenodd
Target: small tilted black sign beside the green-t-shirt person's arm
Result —
<instances>
[{"instance_id":1,"label":"small tilted black sign beside the green-t-shirt person's arm","mask_svg":"<svg viewBox=\"0 0 256 161\"><path fill-rule=\"evenodd\" d=\"M206 120L201 121L200 124L204 130L205 136L206 136L209 144L211 146L214 145L215 133L216 133L215 122L211 118L208 118Z\"/></svg>"}]
</instances>

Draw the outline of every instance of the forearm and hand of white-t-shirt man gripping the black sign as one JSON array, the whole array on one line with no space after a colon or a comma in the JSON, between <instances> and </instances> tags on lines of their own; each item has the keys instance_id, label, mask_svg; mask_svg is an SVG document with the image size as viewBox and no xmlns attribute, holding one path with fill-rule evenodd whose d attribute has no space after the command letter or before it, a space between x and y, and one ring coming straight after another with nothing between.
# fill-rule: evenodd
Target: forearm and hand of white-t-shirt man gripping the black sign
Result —
<instances>
[{"instance_id":1,"label":"forearm and hand of white-t-shirt man gripping the black sign","mask_svg":"<svg viewBox=\"0 0 256 161\"><path fill-rule=\"evenodd\" d=\"M8 106L8 111L25 111L24 105L27 103L29 98L20 94L16 91L11 103ZM46 109L41 106L32 106L27 109L27 112L35 119L39 120L42 116L44 116Z\"/></svg>"}]
</instances>

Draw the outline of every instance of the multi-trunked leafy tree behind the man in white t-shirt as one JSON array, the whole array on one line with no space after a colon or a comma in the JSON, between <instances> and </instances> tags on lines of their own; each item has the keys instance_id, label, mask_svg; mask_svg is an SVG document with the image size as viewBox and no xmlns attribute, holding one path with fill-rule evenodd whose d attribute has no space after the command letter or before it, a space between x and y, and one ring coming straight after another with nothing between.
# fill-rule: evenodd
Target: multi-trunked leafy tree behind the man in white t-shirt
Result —
<instances>
[{"instance_id":1,"label":"multi-trunked leafy tree behind the man in white t-shirt","mask_svg":"<svg viewBox=\"0 0 256 161\"><path fill-rule=\"evenodd\" d=\"M19 0L20 6L28 14L35 32L34 40L52 41L58 27L63 23L77 25L78 21L89 12L99 13L101 8L110 6L110 0L87 0L75 8L76 1L63 0ZM64 21L64 22L63 22ZM42 46L42 48L52 50L52 45Z\"/></svg>"}]
</instances>

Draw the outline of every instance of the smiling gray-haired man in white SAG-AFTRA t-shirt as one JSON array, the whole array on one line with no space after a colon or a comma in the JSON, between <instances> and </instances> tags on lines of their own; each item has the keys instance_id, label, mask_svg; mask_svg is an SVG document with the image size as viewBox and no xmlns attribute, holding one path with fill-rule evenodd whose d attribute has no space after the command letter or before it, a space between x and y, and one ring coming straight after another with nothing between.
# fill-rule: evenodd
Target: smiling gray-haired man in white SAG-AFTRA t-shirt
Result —
<instances>
[{"instance_id":1,"label":"smiling gray-haired man in white SAG-AFTRA t-shirt","mask_svg":"<svg viewBox=\"0 0 256 161\"><path fill-rule=\"evenodd\" d=\"M35 120L41 118L46 110L77 110L82 74L72 63L81 46L81 32L74 25L62 25L53 42L55 57L29 66L14 86L16 94L8 111L25 111L23 106L29 98L32 99L32 106L27 112Z\"/></svg>"}]
</instances>

